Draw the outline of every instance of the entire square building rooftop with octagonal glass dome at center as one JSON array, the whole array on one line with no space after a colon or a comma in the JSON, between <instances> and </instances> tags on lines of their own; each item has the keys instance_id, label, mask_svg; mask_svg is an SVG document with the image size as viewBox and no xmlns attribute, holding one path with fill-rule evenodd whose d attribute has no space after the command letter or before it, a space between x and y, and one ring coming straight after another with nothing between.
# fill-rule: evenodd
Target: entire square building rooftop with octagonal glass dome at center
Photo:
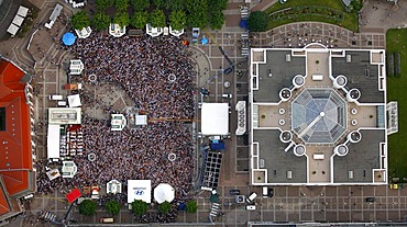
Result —
<instances>
[{"instance_id":1,"label":"entire square building rooftop with octagonal glass dome at center","mask_svg":"<svg viewBox=\"0 0 407 227\"><path fill-rule=\"evenodd\" d=\"M385 184L383 49L251 50L251 183Z\"/></svg>"}]
</instances>

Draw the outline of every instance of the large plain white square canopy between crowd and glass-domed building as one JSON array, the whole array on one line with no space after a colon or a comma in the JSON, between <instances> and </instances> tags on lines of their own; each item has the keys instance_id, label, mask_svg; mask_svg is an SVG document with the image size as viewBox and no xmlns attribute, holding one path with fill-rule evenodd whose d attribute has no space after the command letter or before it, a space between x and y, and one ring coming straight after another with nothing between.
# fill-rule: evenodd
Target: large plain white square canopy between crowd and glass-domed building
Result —
<instances>
[{"instance_id":1,"label":"large plain white square canopy between crowd and glass-domed building","mask_svg":"<svg viewBox=\"0 0 407 227\"><path fill-rule=\"evenodd\" d=\"M205 136L222 136L229 133L229 104L202 103L201 133Z\"/></svg>"}]
</instances>

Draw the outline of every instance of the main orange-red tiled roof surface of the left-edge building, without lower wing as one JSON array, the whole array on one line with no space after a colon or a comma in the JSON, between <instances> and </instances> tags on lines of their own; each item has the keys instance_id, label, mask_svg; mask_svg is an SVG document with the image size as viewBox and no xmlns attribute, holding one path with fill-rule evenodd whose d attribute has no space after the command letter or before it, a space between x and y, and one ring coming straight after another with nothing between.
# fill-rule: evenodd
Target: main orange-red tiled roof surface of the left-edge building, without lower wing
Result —
<instances>
[{"instance_id":1,"label":"main orange-red tiled roof surface of the left-edge building, without lower wing","mask_svg":"<svg viewBox=\"0 0 407 227\"><path fill-rule=\"evenodd\" d=\"M0 61L0 107L6 109L6 130L0 132L0 172L10 195L29 189L32 170L30 106L25 103L24 72Z\"/></svg>"}]
</instances>

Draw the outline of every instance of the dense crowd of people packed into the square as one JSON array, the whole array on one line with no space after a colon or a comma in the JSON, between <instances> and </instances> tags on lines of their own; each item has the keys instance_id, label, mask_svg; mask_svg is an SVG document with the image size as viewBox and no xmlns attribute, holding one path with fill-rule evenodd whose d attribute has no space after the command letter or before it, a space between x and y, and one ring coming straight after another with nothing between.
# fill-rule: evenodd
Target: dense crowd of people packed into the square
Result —
<instances>
[{"instance_id":1,"label":"dense crowd of people packed into the square","mask_svg":"<svg viewBox=\"0 0 407 227\"><path fill-rule=\"evenodd\" d=\"M64 190L65 185L105 186L116 179L122 182L125 195L128 180L146 179L152 180L153 189L160 183L169 183L175 189L176 202L184 202L195 164L191 125L184 120L195 116L193 82L196 78L184 48L175 37L116 38L102 34L78 39L69 47L68 50L85 64L84 78L95 75L97 86L119 84L136 109L148 118L163 121L112 132L109 120L82 115L85 149L82 156L73 157L78 167L76 175L54 181L38 177L38 192ZM82 100L84 109L94 107L89 99L91 95ZM109 111L121 110L110 106ZM96 160L88 160L89 154L95 154ZM169 154L175 154L176 160L168 160ZM46 163L37 164L38 170L43 170Z\"/></svg>"}]
</instances>

